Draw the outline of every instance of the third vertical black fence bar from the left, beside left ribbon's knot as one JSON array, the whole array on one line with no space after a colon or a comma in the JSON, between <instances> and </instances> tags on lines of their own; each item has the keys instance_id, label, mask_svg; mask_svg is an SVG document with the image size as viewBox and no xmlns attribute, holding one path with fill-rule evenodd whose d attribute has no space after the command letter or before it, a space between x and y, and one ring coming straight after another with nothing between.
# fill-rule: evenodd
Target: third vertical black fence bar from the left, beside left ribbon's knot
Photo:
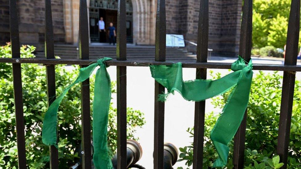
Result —
<instances>
[{"instance_id":1,"label":"third vertical black fence bar from the left, beside left ribbon's knot","mask_svg":"<svg viewBox=\"0 0 301 169\"><path fill-rule=\"evenodd\" d=\"M79 21L79 56L89 59L89 30L87 1L80 0ZM81 66L85 67L85 65ZM81 147L84 151L82 168L91 168L91 116L90 116L90 83L89 78L80 83L81 91Z\"/></svg>"}]
</instances>

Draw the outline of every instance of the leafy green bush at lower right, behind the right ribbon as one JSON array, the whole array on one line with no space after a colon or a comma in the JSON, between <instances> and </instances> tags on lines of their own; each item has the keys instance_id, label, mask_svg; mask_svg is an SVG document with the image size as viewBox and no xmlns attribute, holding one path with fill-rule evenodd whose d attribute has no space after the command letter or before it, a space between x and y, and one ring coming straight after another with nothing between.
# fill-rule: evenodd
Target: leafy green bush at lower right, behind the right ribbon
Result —
<instances>
[{"instance_id":1,"label":"leafy green bush at lower right, behind the right ribbon","mask_svg":"<svg viewBox=\"0 0 301 169\"><path fill-rule=\"evenodd\" d=\"M213 79L221 78L221 74L212 74ZM276 71L265 74L260 71L254 78L251 86L248 105L248 118L245 141L245 168L280 168L276 155L280 102L282 92L282 76ZM215 107L222 108L229 96L229 92L212 99ZM206 114L204 130L204 157L203 168L211 168L218 155L209 139L210 131L219 115L213 112ZM193 137L193 128L187 130ZM301 82L296 80L291 118L291 135L288 150L287 168L301 168ZM227 168L233 168L233 141L229 143L230 154ZM193 145L179 148L179 161L186 161L192 165Z\"/></svg>"}]
</instances>

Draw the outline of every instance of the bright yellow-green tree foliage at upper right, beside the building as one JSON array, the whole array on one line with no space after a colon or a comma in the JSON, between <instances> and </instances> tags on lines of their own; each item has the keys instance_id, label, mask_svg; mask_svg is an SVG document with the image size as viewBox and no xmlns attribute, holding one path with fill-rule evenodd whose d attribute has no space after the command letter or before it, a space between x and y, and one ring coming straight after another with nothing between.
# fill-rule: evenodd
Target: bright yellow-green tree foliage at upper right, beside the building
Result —
<instances>
[{"instance_id":1,"label":"bright yellow-green tree foliage at upper right, beside the building","mask_svg":"<svg viewBox=\"0 0 301 169\"><path fill-rule=\"evenodd\" d=\"M286 43L290 0L254 0L252 44L255 48Z\"/></svg>"}]
</instances>

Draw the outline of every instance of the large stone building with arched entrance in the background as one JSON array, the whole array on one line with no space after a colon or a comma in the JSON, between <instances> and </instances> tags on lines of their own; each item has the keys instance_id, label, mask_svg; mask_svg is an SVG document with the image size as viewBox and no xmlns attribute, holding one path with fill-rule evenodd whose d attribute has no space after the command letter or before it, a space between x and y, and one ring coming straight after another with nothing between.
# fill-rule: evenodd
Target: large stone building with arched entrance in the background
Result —
<instances>
[{"instance_id":1,"label":"large stone building with arched entrance in the background","mask_svg":"<svg viewBox=\"0 0 301 169\"><path fill-rule=\"evenodd\" d=\"M117 23L118 0L88 0L90 42L99 42L97 22ZM44 41L44 1L17 0L20 42L41 46ZM127 42L154 45L156 0L126 0ZM166 0L167 34L183 34L196 42L200 0ZM215 54L238 52L242 2L209 0L209 48ZM79 0L52 0L56 43L77 44ZM118 30L117 30L118 31ZM9 0L0 0L0 43L9 41ZM187 45L189 50L194 47ZM43 49L43 47L40 47Z\"/></svg>"}]
</instances>

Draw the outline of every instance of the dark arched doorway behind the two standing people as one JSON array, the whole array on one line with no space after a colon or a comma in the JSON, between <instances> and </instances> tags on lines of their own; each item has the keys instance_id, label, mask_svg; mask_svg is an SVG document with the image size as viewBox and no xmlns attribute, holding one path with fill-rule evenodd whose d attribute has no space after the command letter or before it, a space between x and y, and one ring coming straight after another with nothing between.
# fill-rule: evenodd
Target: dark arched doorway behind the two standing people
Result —
<instances>
[{"instance_id":1,"label":"dark arched doorway behind the two standing people","mask_svg":"<svg viewBox=\"0 0 301 169\"><path fill-rule=\"evenodd\" d=\"M100 17L104 18L105 28L109 28L112 22L117 28L118 0L90 0L89 23L91 42L108 42L108 31L106 38L100 38L97 23ZM118 31L118 30L116 30ZM131 0L126 0L126 35L127 42L133 43L133 6Z\"/></svg>"}]
</instances>

